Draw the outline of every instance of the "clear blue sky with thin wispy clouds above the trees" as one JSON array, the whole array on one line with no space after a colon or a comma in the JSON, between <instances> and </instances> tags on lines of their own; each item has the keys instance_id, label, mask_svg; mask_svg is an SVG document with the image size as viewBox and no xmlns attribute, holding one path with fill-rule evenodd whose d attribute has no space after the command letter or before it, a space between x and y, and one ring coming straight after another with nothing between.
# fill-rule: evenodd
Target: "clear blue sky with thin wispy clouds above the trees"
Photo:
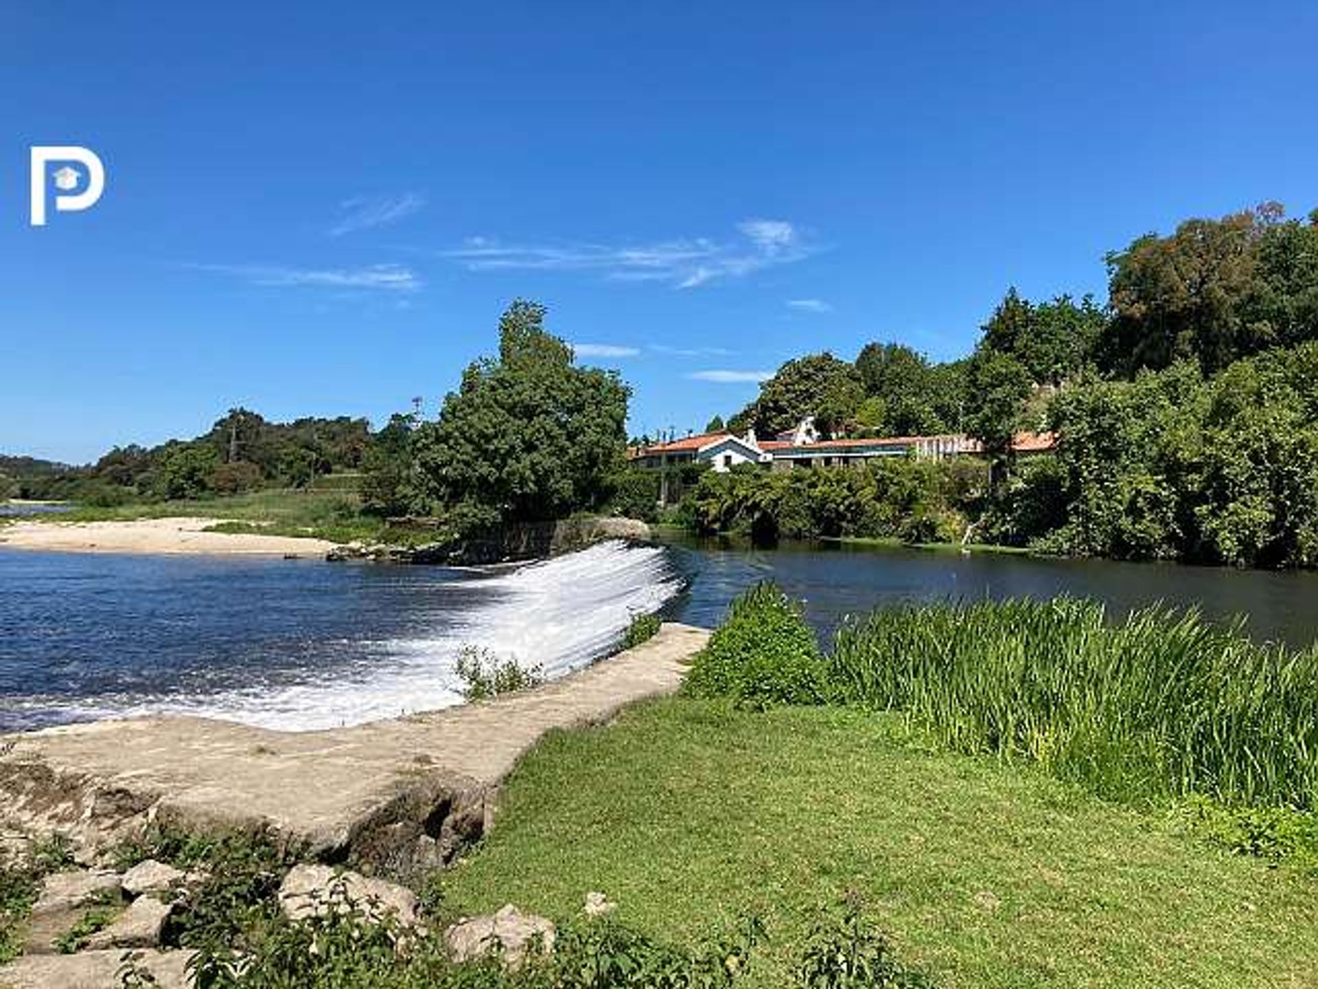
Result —
<instances>
[{"instance_id":1,"label":"clear blue sky with thin wispy clouds above the trees","mask_svg":"<svg viewBox=\"0 0 1318 989\"><path fill-rule=\"evenodd\" d=\"M513 298L700 427L793 355L966 352L1189 215L1318 206L1318 8L11 4L0 451L434 411ZM28 224L28 146L105 162Z\"/></svg>"}]
</instances>

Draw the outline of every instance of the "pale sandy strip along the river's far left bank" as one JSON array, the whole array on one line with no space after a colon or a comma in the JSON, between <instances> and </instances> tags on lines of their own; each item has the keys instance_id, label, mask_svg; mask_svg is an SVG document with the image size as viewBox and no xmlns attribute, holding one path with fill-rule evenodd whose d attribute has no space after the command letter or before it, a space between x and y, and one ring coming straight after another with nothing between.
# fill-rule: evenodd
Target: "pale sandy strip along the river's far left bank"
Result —
<instances>
[{"instance_id":1,"label":"pale sandy strip along the river's far left bank","mask_svg":"<svg viewBox=\"0 0 1318 989\"><path fill-rule=\"evenodd\" d=\"M316 556L326 539L207 533L216 518L144 518L133 522L22 521L0 527L0 546L59 553L146 553Z\"/></svg>"}]
</instances>

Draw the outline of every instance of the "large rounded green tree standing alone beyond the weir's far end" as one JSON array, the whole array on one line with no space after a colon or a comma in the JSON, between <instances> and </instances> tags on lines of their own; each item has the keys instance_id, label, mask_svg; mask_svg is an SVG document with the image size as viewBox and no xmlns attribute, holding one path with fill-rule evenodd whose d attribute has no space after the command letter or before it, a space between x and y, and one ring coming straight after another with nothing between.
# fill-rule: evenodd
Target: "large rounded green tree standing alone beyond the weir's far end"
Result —
<instances>
[{"instance_id":1,"label":"large rounded green tree standing alone beyond the weir's far end","mask_svg":"<svg viewBox=\"0 0 1318 989\"><path fill-rule=\"evenodd\" d=\"M468 367L415 431L419 493L502 520L593 508L623 462L627 397L616 372L575 367L544 307L519 299L500 320L498 357Z\"/></svg>"}]
</instances>

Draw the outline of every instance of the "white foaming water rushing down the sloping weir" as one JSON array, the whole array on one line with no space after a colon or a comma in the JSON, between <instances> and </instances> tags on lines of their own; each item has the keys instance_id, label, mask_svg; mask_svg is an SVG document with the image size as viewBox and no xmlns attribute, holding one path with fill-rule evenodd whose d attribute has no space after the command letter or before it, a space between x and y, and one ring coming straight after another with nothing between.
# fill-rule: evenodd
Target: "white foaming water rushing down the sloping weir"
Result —
<instances>
[{"instance_id":1,"label":"white foaming water rushing down the sloping weir","mask_svg":"<svg viewBox=\"0 0 1318 989\"><path fill-rule=\"evenodd\" d=\"M539 667L552 679L605 655L635 614L658 611L681 589L681 579L662 549L622 542L598 543L511 571L478 574L461 587L488 592L488 601L451 616L452 624L432 638L362 644L372 663L360 674L113 709L79 705L79 713L196 715L281 731L315 731L434 711L463 703L453 670L467 646L489 650L523 669Z\"/></svg>"}]
</instances>

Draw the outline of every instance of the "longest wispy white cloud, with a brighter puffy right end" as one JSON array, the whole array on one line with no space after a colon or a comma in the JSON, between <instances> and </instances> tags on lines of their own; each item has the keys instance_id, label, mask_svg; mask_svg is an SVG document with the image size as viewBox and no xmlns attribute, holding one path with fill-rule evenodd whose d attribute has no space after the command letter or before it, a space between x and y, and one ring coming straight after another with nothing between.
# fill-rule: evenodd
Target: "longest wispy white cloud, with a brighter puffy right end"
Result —
<instances>
[{"instance_id":1,"label":"longest wispy white cloud, with a brighter puffy right end","mask_svg":"<svg viewBox=\"0 0 1318 989\"><path fill-rule=\"evenodd\" d=\"M648 244L505 244L471 237L438 255L469 272L588 272L613 281L695 289L803 261L818 251L786 220L746 220L737 229L741 236L729 241L687 237Z\"/></svg>"}]
</instances>

